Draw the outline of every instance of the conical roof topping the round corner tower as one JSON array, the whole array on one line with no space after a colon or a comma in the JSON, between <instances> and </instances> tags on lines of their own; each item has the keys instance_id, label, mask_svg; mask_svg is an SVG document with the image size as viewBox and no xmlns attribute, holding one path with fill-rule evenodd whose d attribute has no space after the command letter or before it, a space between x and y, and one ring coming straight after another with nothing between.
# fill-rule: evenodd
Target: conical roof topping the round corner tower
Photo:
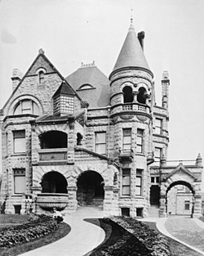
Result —
<instances>
[{"instance_id":1,"label":"conical roof topping the round corner tower","mask_svg":"<svg viewBox=\"0 0 204 256\"><path fill-rule=\"evenodd\" d=\"M133 25L131 25L130 29L128 30L125 42L123 43L121 52L119 53L118 60L113 68L113 72L131 67L150 71L148 62L145 59L143 49L137 35L135 34ZM152 72L150 71L150 73Z\"/></svg>"}]
</instances>

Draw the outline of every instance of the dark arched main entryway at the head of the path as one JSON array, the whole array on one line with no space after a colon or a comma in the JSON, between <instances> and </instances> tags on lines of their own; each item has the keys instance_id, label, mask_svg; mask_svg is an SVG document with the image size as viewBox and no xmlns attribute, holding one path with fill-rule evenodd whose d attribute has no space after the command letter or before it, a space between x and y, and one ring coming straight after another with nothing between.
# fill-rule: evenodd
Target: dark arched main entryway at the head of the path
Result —
<instances>
[{"instance_id":1,"label":"dark arched main entryway at the head of the path","mask_svg":"<svg viewBox=\"0 0 204 256\"><path fill-rule=\"evenodd\" d=\"M103 208L104 179L100 173L86 171L78 177L77 200L80 206L95 206Z\"/></svg>"}]
</instances>

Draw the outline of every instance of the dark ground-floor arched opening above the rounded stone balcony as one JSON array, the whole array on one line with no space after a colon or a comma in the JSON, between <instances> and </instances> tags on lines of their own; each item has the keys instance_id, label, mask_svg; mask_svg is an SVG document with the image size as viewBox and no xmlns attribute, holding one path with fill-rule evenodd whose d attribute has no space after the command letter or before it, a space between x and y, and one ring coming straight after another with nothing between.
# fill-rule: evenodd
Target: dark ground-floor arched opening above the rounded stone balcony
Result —
<instances>
[{"instance_id":1,"label":"dark ground-floor arched opening above the rounded stone balcony","mask_svg":"<svg viewBox=\"0 0 204 256\"><path fill-rule=\"evenodd\" d=\"M42 177L42 193L64 193L67 194L67 180L58 172L51 171Z\"/></svg>"}]
</instances>

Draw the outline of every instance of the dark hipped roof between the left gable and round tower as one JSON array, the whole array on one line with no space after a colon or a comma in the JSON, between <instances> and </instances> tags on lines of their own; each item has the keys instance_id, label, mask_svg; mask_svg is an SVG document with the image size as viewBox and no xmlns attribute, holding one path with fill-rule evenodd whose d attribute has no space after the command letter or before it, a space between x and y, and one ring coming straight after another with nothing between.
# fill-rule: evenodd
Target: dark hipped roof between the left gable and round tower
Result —
<instances>
[{"instance_id":1,"label":"dark hipped roof between the left gable and round tower","mask_svg":"<svg viewBox=\"0 0 204 256\"><path fill-rule=\"evenodd\" d=\"M82 65L66 80L90 108L109 106L109 79L95 65ZM90 89L80 90L84 84L90 84Z\"/></svg>"}]
</instances>

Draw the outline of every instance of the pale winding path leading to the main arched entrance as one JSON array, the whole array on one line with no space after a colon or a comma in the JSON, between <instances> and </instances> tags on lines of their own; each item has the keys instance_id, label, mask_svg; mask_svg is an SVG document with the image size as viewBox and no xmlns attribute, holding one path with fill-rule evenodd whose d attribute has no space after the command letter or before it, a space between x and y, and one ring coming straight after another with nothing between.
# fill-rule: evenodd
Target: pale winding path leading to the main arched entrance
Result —
<instances>
[{"instance_id":1,"label":"pale winding path leading to the main arched entrance","mask_svg":"<svg viewBox=\"0 0 204 256\"><path fill-rule=\"evenodd\" d=\"M68 223L71 231L64 238L33 249L22 256L82 256L104 241L104 230L84 218L103 218L103 212L93 208L78 209L75 213L66 215L64 222Z\"/></svg>"}]
</instances>

